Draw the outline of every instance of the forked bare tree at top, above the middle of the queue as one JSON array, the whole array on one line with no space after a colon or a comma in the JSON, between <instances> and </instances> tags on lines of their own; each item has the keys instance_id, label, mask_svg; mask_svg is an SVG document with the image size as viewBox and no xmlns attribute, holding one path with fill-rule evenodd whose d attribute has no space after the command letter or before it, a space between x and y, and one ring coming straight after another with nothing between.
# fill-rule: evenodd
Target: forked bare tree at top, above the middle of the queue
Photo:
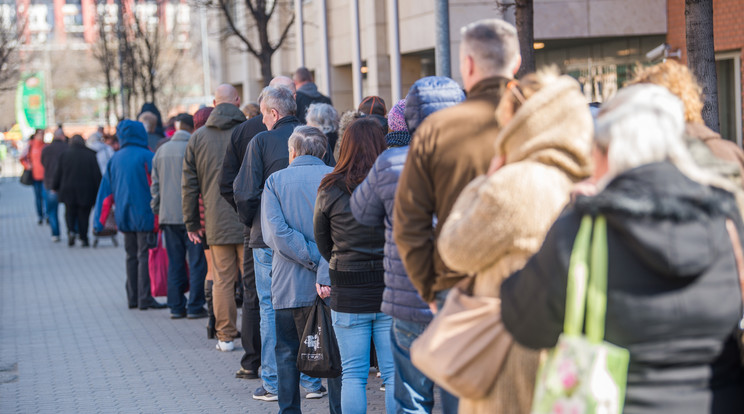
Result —
<instances>
[{"instance_id":1,"label":"forked bare tree at top, above the middle of the queue","mask_svg":"<svg viewBox=\"0 0 744 414\"><path fill-rule=\"evenodd\" d=\"M238 28L234 9L231 10L231 6L234 1L244 1L245 7L248 10L247 16L249 17L249 27L245 32L242 32ZM215 4L216 3L216 4ZM276 42L272 42L269 38L269 27L271 18L274 17L277 6L281 2L279 0L205 0L201 4L207 4L215 6L222 12L222 16L225 18L227 23L227 35L237 37L241 43L245 46L244 51L249 52L258 59L261 65L261 76L263 78L264 85L268 85L271 79L274 77L271 69L271 57L274 55L282 44L287 39L289 29L294 23L295 15L291 7L284 7L288 12L292 13L289 21L284 25L281 30L279 39ZM255 30L255 34L258 38L258 42L251 40L249 31Z\"/></svg>"}]
</instances>

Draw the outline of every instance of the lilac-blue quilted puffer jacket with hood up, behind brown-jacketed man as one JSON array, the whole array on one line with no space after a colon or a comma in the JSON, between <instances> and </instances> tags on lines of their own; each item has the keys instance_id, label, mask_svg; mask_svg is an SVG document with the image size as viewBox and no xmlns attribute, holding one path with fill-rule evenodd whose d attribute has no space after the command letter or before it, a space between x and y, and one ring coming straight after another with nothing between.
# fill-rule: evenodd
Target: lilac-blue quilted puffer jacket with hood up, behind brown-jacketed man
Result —
<instances>
[{"instance_id":1,"label":"lilac-blue quilted puffer jacket with hood up, behind brown-jacketed man","mask_svg":"<svg viewBox=\"0 0 744 414\"><path fill-rule=\"evenodd\" d=\"M429 76L419 79L406 96L408 130L414 131L427 116L464 99L465 93L450 78ZM351 212L359 223L366 226L385 223L385 291L381 310L394 318L428 323L432 319L431 310L408 279L393 239L395 190L408 148L390 148L380 154L367 178L351 195Z\"/></svg>"}]
</instances>

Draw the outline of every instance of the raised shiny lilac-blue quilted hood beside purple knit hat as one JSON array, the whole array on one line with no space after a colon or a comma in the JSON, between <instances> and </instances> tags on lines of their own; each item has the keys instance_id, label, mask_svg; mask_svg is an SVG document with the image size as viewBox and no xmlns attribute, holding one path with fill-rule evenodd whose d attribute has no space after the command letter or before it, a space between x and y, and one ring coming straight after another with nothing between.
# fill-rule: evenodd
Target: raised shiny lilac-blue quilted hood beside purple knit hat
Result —
<instances>
[{"instance_id":1,"label":"raised shiny lilac-blue quilted hood beside purple knit hat","mask_svg":"<svg viewBox=\"0 0 744 414\"><path fill-rule=\"evenodd\" d=\"M406 126L413 136L427 116L465 100L465 92L445 76L427 76L417 80L406 95Z\"/></svg>"}]
</instances>

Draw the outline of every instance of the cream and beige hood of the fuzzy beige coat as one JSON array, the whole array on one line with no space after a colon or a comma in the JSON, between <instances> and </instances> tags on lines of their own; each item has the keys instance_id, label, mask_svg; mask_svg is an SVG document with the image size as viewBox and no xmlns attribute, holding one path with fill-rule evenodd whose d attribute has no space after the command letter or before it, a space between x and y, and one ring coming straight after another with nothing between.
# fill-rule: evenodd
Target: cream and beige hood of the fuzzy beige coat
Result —
<instances>
[{"instance_id":1,"label":"cream and beige hood of the fuzzy beige coat","mask_svg":"<svg viewBox=\"0 0 744 414\"><path fill-rule=\"evenodd\" d=\"M594 124L579 84L569 76L539 74L542 89L517 110L496 138L505 164L536 161L574 180L591 174Z\"/></svg>"}]
</instances>

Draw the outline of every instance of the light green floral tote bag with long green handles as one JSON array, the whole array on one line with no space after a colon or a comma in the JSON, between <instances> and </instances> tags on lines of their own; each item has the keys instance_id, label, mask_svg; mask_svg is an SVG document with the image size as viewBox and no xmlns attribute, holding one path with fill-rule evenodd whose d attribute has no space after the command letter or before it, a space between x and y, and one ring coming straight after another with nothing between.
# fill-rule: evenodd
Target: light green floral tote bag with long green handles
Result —
<instances>
[{"instance_id":1,"label":"light green floral tote bag with long green handles","mask_svg":"<svg viewBox=\"0 0 744 414\"><path fill-rule=\"evenodd\" d=\"M630 353L604 341L606 310L607 222L587 215L571 252L563 333L538 370L533 414L622 413Z\"/></svg>"}]
</instances>

